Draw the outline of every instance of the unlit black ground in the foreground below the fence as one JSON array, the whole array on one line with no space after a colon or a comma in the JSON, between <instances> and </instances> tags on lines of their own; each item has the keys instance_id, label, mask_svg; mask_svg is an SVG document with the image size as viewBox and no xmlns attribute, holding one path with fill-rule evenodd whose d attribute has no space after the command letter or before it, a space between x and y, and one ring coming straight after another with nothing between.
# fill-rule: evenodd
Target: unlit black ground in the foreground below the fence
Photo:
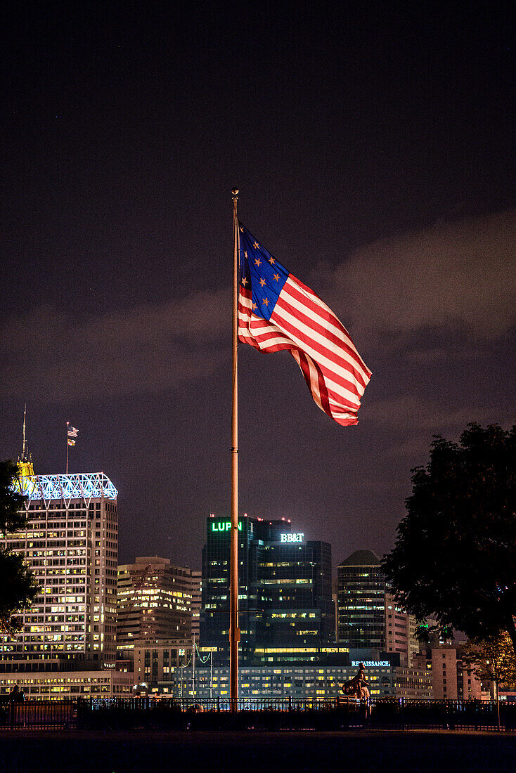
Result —
<instances>
[{"instance_id":1,"label":"unlit black ground in the foreground below the fence","mask_svg":"<svg viewBox=\"0 0 516 773\"><path fill-rule=\"evenodd\" d=\"M266 733L75 733L0 735L10 771L512 771L516 735L348 730Z\"/></svg>"}]
</instances>

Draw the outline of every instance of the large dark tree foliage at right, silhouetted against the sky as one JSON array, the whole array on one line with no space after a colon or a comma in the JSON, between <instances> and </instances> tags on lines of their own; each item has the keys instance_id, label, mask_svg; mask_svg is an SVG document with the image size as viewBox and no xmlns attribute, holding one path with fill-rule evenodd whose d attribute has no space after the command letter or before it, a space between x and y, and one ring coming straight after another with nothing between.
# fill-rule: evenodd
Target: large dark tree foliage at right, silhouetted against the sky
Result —
<instances>
[{"instance_id":1,"label":"large dark tree foliage at right, silhouetted against the sky","mask_svg":"<svg viewBox=\"0 0 516 773\"><path fill-rule=\"evenodd\" d=\"M507 631L516 652L516 426L437 436L406 506L382 562L396 600L470 638Z\"/></svg>"}]
</instances>

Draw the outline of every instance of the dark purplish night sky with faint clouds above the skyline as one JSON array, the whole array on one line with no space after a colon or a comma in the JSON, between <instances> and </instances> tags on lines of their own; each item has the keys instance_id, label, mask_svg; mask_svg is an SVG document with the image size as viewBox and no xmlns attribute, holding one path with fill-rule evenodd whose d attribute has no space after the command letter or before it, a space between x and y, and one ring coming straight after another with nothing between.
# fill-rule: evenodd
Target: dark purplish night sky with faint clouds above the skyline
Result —
<instances>
[{"instance_id":1,"label":"dark purplish night sky with faint clouds above the skyline","mask_svg":"<svg viewBox=\"0 0 516 773\"><path fill-rule=\"evenodd\" d=\"M432 434L514 420L512 4L32 5L2 19L0 458L26 402L36 472L64 472L70 421L121 563L200 568L230 512L237 186L373 372L340 427L287 352L239 347L241 512L334 566L389 550Z\"/></svg>"}]
</instances>

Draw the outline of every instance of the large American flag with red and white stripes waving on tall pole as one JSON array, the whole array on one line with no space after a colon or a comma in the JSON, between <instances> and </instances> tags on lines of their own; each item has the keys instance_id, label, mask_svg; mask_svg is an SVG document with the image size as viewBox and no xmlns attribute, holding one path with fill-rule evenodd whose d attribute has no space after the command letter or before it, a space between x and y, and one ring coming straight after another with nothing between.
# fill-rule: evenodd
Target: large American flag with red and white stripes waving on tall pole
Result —
<instances>
[{"instance_id":1,"label":"large American flag with red and white stripes waving on tall pole","mask_svg":"<svg viewBox=\"0 0 516 773\"><path fill-rule=\"evenodd\" d=\"M320 409L338 424L357 424L371 371L350 334L316 293L238 227L238 338L261 352L287 349Z\"/></svg>"}]
</instances>

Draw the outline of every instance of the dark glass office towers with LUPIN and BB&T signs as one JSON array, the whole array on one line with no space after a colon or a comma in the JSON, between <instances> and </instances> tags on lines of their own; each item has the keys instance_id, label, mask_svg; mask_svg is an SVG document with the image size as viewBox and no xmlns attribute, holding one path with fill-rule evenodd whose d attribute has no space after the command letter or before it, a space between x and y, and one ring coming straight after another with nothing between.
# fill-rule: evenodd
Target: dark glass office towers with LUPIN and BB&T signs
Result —
<instances>
[{"instance_id":1,"label":"dark glass office towers with LUPIN and BB&T signs","mask_svg":"<svg viewBox=\"0 0 516 773\"><path fill-rule=\"evenodd\" d=\"M203 549L201 650L222 666L229 659L230 529L230 521L211 515ZM241 662L316 661L334 638L330 545L305 540L285 519L246 515L238 530Z\"/></svg>"}]
</instances>

